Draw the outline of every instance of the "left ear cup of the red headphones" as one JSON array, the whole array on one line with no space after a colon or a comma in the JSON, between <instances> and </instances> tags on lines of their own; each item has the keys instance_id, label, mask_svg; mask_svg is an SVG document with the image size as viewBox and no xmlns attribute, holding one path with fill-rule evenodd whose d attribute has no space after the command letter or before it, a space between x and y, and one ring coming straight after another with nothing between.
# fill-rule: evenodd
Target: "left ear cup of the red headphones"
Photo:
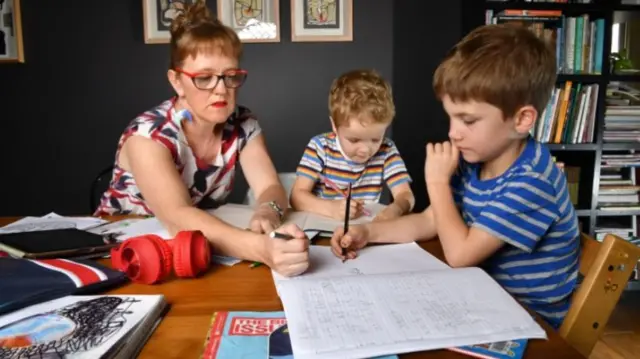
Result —
<instances>
[{"instance_id":1,"label":"left ear cup of the red headphones","mask_svg":"<svg viewBox=\"0 0 640 359\"><path fill-rule=\"evenodd\" d=\"M134 282L153 284L171 273L171 247L159 236L129 238L111 250L111 264Z\"/></svg>"}]
</instances>

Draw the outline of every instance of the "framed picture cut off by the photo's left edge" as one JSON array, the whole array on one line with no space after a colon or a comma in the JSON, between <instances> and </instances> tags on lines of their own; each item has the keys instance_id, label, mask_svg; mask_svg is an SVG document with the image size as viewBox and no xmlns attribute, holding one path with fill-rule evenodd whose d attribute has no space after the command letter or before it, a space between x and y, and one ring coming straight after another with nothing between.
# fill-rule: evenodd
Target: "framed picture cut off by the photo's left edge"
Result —
<instances>
[{"instance_id":1,"label":"framed picture cut off by the photo's left edge","mask_svg":"<svg viewBox=\"0 0 640 359\"><path fill-rule=\"evenodd\" d=\"M24 62L20 0L0 0L0 63Z\"/></svg>"}]
</instances>

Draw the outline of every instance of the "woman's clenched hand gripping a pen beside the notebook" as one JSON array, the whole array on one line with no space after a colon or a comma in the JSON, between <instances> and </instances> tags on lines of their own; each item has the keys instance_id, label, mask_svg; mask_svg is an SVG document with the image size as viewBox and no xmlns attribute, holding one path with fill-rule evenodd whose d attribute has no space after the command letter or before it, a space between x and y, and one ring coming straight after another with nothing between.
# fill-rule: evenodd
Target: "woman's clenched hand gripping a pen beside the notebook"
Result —
<instances>
[{"instance_id":1,"label":"woman's clenched hand gripping a pen beside the notebook","mask_svg":"<svg viewBox=\"0 0 640 359\"><path fill-rule=\"evenodd\" d=\"M265 241L266 264L285 277L304 273L309 268L309 239L295 224L278 228L280 235Z\"/></svg>"}]
</instances>

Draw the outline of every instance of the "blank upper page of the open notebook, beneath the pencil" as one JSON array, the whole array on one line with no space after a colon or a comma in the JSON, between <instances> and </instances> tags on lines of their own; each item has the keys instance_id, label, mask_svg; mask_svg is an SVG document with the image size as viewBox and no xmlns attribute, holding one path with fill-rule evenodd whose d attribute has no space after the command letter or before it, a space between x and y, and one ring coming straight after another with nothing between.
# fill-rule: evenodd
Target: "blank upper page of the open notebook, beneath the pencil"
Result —
<instances>
[{"instance_id":1,"label":"blank upper page of the open notebook, beneath the pencil","mask_svg":"<svg viewBox=\"0 0 640 359\"><path fill-rule=\"evenodd\" d=\"M358 252L355 259L342 262L328 246L309 246L309 270L296 277L284 277L271 271L276 287L281 281L319 277L373 275L449 268L444 262L415 243L369 246Z\"/></svg>"}]
</instances>

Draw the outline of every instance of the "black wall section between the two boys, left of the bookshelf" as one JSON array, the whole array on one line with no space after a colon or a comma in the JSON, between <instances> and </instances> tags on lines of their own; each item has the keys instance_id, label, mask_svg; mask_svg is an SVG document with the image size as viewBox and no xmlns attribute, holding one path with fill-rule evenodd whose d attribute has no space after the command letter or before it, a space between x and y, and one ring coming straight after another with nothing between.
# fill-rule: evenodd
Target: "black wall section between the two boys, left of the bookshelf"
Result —
<instances>
[{"instance_id":1,"label":"black wall section between the two boys, left of the bookshelf","mask_svg":"<svg viewBox=\"0 0 640 359\"><path fill-rule=\"evenodd\" d=\"M413 177L415 211L429 204L424 183L425 145L448 139L449 120L433 93L433 72L461 36L461 2L394 3L393 86L397 114L393 139Z\"/></svg>"}]
</instances>

